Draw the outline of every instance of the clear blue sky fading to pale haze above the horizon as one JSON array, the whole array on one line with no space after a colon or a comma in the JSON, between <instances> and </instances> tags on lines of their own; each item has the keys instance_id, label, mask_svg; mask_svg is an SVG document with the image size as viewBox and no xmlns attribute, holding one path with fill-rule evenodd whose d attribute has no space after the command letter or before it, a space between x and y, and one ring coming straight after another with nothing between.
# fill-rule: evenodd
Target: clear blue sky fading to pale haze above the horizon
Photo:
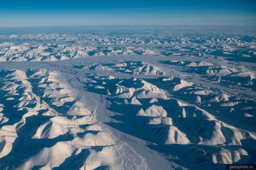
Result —
<instances>
[{"instance_id":1,"label":"clear blue sky fading to pale haze above the horizon","mask_svg":"<svg viewBox=\"0 0 256 170\"><path fill-rule=\"evenodd\" d=\"M0 27L256 25L255 0L0 0Z\"/></svg>"}]
</instances>

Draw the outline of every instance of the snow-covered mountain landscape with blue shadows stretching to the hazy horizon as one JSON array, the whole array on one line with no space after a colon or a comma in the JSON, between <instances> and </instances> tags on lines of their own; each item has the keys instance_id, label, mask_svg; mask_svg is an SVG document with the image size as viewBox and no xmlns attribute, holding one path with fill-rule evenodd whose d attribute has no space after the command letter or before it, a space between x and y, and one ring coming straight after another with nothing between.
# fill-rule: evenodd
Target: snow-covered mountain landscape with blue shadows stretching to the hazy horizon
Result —
<instances>
[{"instance_id":1,"label":"snow-covered mountain landscape with blue shadows stretching to the hazy horizon","mask_svg":"<svg viewBox=\"0 0 256 170\"><path fill-rule=\"evenodd\" d=\"M0 169L256 160L256 37L0 36Z\"/></svg>"}]
</instances>

